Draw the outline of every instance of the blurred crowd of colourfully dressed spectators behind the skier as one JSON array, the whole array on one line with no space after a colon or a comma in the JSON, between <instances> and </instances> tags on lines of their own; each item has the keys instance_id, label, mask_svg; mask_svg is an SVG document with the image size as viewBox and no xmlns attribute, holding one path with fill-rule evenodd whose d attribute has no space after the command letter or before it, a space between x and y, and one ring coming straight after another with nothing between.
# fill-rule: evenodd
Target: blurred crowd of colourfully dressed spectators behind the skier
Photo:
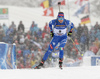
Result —
<instances>
[{"instance_id":1,"label":"blurred crowd of colourfully dressed spectators behind the skier","mask_svg":"<svg viewBox=\"0 0 100 79\"><path fill-rule=\"evenodd\" d=\"M91 26L91 29L88 29L89 26L85 24L79 24L76 27L74 27L72 34L75 44L70 39L67 41L64 57L77 60L87 50L92 51L95 55L100 55L100 25L98 22ZM5 23L0 24L0 42L16 44L16 62L19 69L32 68L38 64L48 49L51 39L48 23L45 24L42 30L38 27L38 24L32 21L27 32L25 32L25 26L22 21L19 22L18 26L14 22L10 26ZM50 55L47 64L50 63L52 58L54 57Z\"/></svg>"}]
</instances>

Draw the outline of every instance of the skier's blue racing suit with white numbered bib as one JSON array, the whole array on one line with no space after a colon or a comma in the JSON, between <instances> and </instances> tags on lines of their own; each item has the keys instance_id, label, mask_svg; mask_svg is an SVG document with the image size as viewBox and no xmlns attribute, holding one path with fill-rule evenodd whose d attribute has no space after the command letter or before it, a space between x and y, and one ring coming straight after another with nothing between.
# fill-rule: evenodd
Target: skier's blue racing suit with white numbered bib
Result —
<instances>
[{"instance_id":1,"label":"skier's blue racing suit with white numbered bib","mask_svg":"<svg viewBox=\"0 0 100 79\"><path fill-rule=\"evenodd\" d=\"M54 27L53 27L54 26ZM53 49L56 47L58 43L59 45L59 58L63 58L64 54L64 46L67 42L67 32L73 30L73 23L69 20L64 19L62 23L58 21L58 19L54 19L49 22L50 30L53 31L54 36L49 44L48 50L45 53L43 60L47 60L48 56L52 53Z\"/></svg>"}]
</instances>

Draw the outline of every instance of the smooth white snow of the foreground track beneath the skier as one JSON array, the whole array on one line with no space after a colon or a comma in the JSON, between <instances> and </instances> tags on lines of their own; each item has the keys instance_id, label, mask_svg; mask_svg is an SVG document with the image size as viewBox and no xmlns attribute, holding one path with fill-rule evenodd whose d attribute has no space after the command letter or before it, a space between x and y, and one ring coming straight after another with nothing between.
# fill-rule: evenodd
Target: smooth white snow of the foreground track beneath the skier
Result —
<instances>
[{"instance_id":1,"label":"smooth white snow of the foreground track beneath the skier","mask_svg":"<svg viewBox=\"0 0 100 79\"><path fill-rule=\"evenodd\" d=\"M100 79L100 67L0 70L0 79Z\"/></svg>"}]
</instances>

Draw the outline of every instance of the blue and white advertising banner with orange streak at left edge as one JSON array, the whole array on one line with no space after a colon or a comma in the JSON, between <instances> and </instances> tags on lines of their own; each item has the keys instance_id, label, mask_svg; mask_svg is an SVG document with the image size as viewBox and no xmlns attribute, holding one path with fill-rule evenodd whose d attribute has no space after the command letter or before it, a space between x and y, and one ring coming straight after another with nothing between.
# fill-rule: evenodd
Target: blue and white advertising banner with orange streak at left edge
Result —
<instances>
[{"instance_id":1,"label":"blue and white advertising banner with orange streak at left edge","mask_svg":"<svg viewBox=\"0 0 100 79\"><path fill-rule=\"evenodd\" d=\"M15 45L0 43L0 69L16 68Z\"/></svg>"}]
</instances>

